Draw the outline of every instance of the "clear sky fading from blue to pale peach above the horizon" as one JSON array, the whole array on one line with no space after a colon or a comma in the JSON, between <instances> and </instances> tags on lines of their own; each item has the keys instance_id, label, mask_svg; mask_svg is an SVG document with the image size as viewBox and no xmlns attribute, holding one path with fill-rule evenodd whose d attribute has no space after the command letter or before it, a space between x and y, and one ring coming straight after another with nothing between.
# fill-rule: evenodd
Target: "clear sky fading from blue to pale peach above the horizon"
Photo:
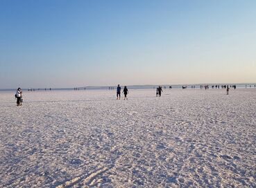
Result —
<instances>
[{"instance_id":1,"label":"clear sky fading from blue to pale peach above the horizon","mask_svg":"<svg viewBox=\"0 0 256 188\"><path fill-rule=\"evenodd\" d=\"M0 88L246 82L255 0L0 0Z\"/></svg>"}]
</instances>

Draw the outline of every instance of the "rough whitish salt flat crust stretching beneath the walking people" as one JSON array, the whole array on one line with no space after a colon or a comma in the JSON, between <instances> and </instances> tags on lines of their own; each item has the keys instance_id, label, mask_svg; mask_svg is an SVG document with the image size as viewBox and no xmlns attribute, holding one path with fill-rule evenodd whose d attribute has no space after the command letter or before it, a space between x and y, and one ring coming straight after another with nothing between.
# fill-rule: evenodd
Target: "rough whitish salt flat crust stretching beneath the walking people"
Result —
<instances>
[{"instance_id":1,"label":"rough whitish salt flat crust stretching beneath the walking people","mask_svg":"<svg viewBox=\"0 0 256 188\"><path fill-rule=\"evenodd\" d=\"M0 93L0 187L256 187L256 89Z\"/></svg>"}]
</instances>

